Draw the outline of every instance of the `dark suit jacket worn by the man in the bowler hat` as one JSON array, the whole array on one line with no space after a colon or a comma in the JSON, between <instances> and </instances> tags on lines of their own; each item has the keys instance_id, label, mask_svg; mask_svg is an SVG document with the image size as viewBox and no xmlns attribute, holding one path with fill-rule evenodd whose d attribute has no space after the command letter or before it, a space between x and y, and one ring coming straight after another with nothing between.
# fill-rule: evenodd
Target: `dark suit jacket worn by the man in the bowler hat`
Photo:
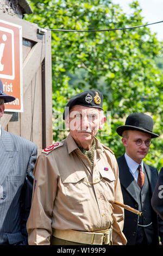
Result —
<instances>
[{"instance_id":1,"label":"dark suit jacket worn by the man in the bowler hat","mask_svg":"<svg viewBox=\"0 0 163 256\"><path fill-rule=\"evenodd\" d=\"M119 175L120 182L123 194L124 204L131 206L134 209L138 210L138 200L137 193L135 190L135 180L133 175L130 173L126 159L123 156L117 159L118 167L119 167ZM146 173L149 180L149 186L151 187L151 191L153 193L154 187L158 180L158 170L152 166L149 166L144 162L144 167L146 169ZM158 220L158 216L154 211L152 211L153 216L153 226L155 233L155 241L153 241L153 245L157 245L159 243L159 235L161 237L161 241L163 241L163 222ZM135 245L136 242L136 233L137 233L137 224L139 221L139 216L133 214L133 212L124 210L124 228L123 233L126 236L128 242L127 245ZM159 231L158 231L159 224Z\"/></svg>"}]
</instances>

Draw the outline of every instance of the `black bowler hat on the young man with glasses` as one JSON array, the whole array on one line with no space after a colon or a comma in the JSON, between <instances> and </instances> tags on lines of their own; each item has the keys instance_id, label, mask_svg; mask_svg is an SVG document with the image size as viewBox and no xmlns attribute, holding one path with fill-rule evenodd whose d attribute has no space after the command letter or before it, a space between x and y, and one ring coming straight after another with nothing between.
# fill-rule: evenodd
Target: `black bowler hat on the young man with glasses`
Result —
<instances>
[{"instance_id":1,"label":"black bowler hat on the young man with glasses","mask_svg":"<svg viewBox=\"0 0 163 256\"><path fill-rule=\"evenodd\" d=\"M135 130L140 132L145 132L151 135L151 138L159 137L156 133L153 133L153 119L147 114L143 113L133 113L130 114L125 125L117 127L118 135L122 136L123 131Z\"/></svg>"}]
</instances>

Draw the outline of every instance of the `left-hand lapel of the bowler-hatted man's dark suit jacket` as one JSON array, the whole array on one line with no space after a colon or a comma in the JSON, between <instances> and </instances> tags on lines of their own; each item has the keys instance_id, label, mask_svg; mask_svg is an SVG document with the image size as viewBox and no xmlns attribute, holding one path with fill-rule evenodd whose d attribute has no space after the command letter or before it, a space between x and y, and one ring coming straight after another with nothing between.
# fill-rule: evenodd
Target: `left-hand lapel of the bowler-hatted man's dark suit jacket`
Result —
<instances>
[{"instance_id":1,"label":"left-hand lapel of the bowler-hatted man's dark suit jacket","mask_svg":"<svg viewBox=\"0 0 163 256\"><path fill-rule=\"evenodd\" d=\"M123 156L117 159L121 185L127 190L131 197L138 203L136 184L133 175L130 173L126 159Z\"/></svg>"}]
</instances>

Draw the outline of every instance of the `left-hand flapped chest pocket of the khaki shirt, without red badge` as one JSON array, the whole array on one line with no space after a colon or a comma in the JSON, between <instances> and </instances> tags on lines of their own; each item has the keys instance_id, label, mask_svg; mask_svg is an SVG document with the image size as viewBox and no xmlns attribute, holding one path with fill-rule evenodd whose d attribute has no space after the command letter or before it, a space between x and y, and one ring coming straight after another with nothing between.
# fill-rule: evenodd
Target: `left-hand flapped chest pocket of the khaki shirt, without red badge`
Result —
<instances>
[{"instance_id":1,"label":"left-hand flapped chest pocket of the khaki shirt, without red badge","mask_svg":"<svg viewBox=\"0 0 163 256\"><path fill-rule=\"evenodd\" d=\"M86 173L79 171L62 180L62 186L70 203L83 203L90 200L89 187L84 182L85 177Z\"/></svg>"}]
</instances>

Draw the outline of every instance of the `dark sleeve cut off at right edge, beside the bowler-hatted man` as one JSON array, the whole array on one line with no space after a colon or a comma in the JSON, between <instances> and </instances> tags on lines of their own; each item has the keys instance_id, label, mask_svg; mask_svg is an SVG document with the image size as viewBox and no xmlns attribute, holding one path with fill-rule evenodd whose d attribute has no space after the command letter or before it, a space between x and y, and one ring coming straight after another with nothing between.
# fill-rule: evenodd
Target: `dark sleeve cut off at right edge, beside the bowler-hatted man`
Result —
<instances>
[{"instance_id":1,"label":"dark sleeve cut off at right edge, beside the bowler-hatted man","mask_svg":"<svg viewBox=\"0 0 163 256\"><path fill-rule=\"evenodd\" d=\"M159 173L159 179L152 196L152 207L163 220L163 167Z\"/></svg>"}]
</instances>

